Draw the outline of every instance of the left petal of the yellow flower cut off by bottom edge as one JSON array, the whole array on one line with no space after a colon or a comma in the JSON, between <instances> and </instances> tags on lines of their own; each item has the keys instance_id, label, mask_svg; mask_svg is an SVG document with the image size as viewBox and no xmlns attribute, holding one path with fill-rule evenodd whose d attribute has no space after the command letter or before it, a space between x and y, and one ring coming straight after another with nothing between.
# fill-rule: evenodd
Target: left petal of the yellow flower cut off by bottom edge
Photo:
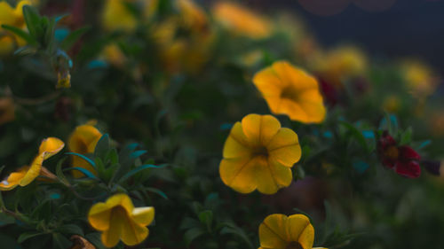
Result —
<instances>
[{"instance_id":1,"label":"left petal of the yellow flower cut off by bottom edge","mask_svg":"<svg viewBox=\"0 0 444 249\"><path fill-rule=\"evenodd\" d=\"M287 216L271 214L259 226L260 246L264 248L282 248L289 241L287 235Z\"/></svg>"}]
</instances>

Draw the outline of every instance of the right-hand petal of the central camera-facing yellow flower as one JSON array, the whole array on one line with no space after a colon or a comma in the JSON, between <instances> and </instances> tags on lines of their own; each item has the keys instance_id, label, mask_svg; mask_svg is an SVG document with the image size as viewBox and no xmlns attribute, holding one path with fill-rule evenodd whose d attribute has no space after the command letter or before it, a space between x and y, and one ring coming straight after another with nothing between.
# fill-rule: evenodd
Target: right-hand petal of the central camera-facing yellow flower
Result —
<instances>
[{"instance_id":1,"label":"right-hand petal of the central camera-facing yellow flower","mask_svg":"<svg viewBox=\"0 0 444 249\"><path fill-rule=\"evenodd\" d=\"M267 146L269 160L292 167L301 158L297 134L289 128L281 128Z\"/></svg>"}]
</instances>

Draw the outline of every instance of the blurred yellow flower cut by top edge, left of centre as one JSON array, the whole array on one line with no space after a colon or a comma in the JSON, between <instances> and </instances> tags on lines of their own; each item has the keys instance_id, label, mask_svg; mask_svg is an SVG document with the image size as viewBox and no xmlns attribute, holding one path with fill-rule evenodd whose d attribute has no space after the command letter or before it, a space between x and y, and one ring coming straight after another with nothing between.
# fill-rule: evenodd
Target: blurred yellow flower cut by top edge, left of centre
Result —
<instances>
[{"instance_id":1,"label":"blurred yellow flower cut by top edge, left of centre","mask_svg":"<svg viewBox=\"0 0 444 249\"><path fill-rule=\"evenodd\" d=\"M107 0L102 12L102 25L107 31L133 32L138 21L126 4L131 0Z\"/></svg>"}]
</instances>

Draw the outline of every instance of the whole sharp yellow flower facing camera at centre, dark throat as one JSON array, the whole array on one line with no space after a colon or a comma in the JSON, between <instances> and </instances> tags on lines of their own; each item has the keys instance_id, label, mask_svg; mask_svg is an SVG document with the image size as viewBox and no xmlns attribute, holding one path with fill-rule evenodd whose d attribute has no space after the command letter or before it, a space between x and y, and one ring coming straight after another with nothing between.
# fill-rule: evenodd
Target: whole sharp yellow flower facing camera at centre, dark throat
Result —
<instances>
[{"instance_id":1,"label":"whole sharp yellow flower facing camera at centre, dark throat","mask_svg":"<svg viewBox=\"0 0 444 249\"><path fill-rule=\"evenodd\" d=\"M226 138L220 162L222 181L234 191L274 194L291 183L291 167L301 157L297 134L271 115L250 114Z\"/></svg>"}]
</instances>

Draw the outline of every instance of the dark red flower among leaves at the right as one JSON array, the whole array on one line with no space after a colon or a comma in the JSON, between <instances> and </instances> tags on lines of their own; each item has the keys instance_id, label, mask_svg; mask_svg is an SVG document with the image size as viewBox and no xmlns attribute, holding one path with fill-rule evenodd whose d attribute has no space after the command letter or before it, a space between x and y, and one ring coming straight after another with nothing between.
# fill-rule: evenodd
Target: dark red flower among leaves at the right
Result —
<instances>
[{"instance_id":1,"label":"dark red flower among leaves at the right","mask_svg":"<svg viewBox=\"0 0 444 249\"><path fill-rule=\"evenodd\" d=\"M421 156L408 146L398 146L387 131L377 141L377 154L385 167L392 168L399 175L408 178L421 175Z\"/></svg>"}]
</instances>

